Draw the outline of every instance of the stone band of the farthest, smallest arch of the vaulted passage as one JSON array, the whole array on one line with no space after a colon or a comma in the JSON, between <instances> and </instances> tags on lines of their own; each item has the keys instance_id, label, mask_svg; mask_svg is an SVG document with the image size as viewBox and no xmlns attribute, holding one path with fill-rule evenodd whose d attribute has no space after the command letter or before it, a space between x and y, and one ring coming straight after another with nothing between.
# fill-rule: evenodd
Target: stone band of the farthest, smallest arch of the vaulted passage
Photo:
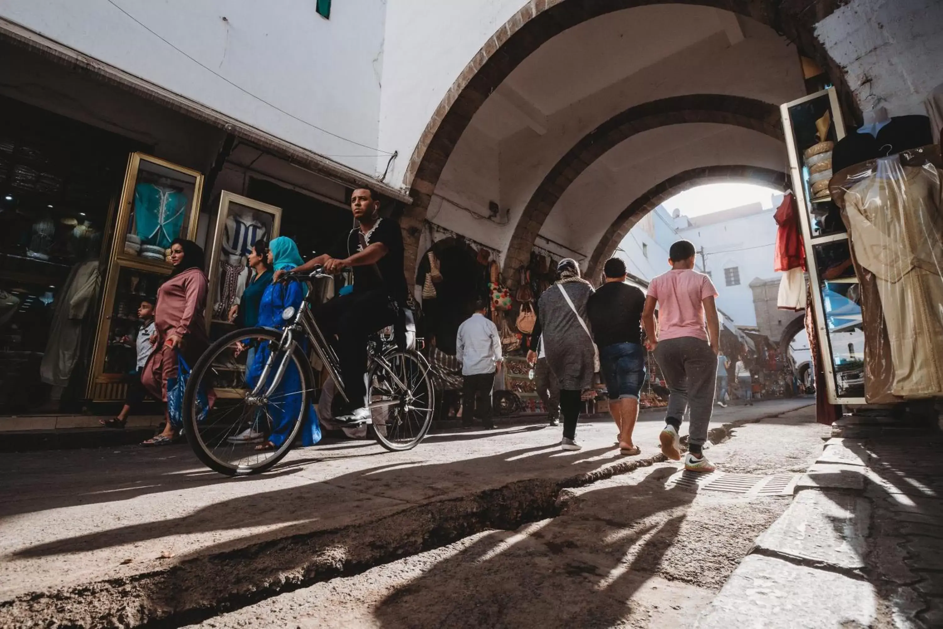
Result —
<instances>
[{"instance_id":1,"label":"stone band of the farthest, smallest arch of the vaulted passage","mask_svg":"<svg viewBox=\"0 0 943 629\"><path fill-rule=\"evenodd\" d=\"M609 225L589 257L587 276L598 277L603 273L605 261L616 252L629 230L655 207L679 192L706 184L728 182L757 184L776 190L786 190L787 186L785 173L758 166L704 166L670 176L630 203Z\"/></svg>"}]
</instances>

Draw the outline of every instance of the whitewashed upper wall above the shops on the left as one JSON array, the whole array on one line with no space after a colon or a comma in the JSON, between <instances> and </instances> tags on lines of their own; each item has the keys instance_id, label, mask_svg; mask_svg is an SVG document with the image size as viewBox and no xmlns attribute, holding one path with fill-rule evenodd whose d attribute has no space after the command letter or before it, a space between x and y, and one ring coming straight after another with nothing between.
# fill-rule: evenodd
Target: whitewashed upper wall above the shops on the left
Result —
<instances>
[{"instance_id":1,"label":"whitewashed upper wall above the shops on the left","mask_svg":"<svg viewBox=\"0 0 943 629\"><path fill-rule=\"evenodd\" d=\"M350 141L233 87L107 0L3 0L0 16L363 173L386 165L372 150L379 135L384 0L335 2L329 20L315 12L314 0L115 3L245 91Z\"/></svg>"}]
</instances>

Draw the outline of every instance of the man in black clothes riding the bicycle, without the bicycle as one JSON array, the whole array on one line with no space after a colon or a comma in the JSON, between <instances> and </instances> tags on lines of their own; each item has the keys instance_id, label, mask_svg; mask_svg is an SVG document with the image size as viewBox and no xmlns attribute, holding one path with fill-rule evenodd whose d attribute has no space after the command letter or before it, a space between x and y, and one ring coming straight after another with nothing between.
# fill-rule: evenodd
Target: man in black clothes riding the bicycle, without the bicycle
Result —
<instances>
[{"instance_id":1,"label":"man in black clothes riding the bicycle, without the bicycle","mask_svg":"<svg viewBox=\"0 0 943 629\"><path fill-rule=\"evenodd\" d=\"M337 245L311 258L290 273L322 266L324 273L354 270L354 290L314 310L324 336L337 336L340 374L348 404L336 419L365 422L371 418L367 396L367 343L370 335L401 323L406 304L403 235L391 219L380 218L380 202L369 188L351 195L351 210L359 223ZM281 273L275 274L275 279Z\"/></svg>"}]
</instances>

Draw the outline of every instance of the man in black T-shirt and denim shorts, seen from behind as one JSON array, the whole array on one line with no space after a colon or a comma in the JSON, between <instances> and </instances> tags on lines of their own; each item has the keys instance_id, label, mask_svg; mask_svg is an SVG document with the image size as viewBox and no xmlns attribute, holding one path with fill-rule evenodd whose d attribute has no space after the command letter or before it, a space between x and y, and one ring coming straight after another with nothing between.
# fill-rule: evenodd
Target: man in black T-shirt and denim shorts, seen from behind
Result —
<instances>
[{"instance_id":1,"label":"man in black T-shirt and denim shorts, seen from behind","mask_svg":"<svg viewBox=\"0 0 943 629\"><path fill-rule=\"evenodd\" d=\"M609 412L619 426L622 455L641 452L632 440L638 419L638 392L645 382L645 348L641 318L645 293L625 283L625 262L612 257L605 262L605 283L589 296L587 315L609 393Z\"/></svg>"}]
</instances>

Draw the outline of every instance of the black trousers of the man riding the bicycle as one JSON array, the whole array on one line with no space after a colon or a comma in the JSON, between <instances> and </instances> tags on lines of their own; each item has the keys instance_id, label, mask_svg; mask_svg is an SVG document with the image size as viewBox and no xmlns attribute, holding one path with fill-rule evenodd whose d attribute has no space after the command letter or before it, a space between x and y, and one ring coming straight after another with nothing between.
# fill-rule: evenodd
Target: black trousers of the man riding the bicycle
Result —
<instances>
[{"instance_id":1,"label":"black trousers of the man riding the bicycle","mask_svg":"<svg viewBox=\"0 0 943 629\"><path fill-rule=\"evenodd\" d=\"M315 308L314 318L327 339L337 336L334 348L351 406L366 406L367 339L397 318L387 292L365 290L339 295Z\"/></svg>"}]
</instances>

